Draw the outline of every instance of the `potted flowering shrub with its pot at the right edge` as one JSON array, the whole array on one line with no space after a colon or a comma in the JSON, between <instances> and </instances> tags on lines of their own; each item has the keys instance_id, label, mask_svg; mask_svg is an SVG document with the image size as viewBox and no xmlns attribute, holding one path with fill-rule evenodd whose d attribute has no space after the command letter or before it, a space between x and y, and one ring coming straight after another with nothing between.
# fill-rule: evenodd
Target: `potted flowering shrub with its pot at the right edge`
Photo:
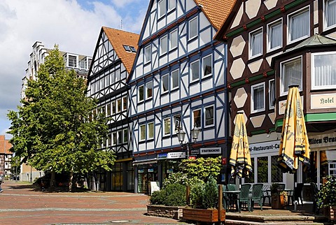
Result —
<instances>
[{"instance_id":1,"label":"potted flowering shrub with its pot at the right edge","mask_svg":"<svg viewBox=\"0 0 336 225\"><path fill-rule=\"evenodd\" d=\"M330 220L336 220L336 176L328 176L318 191L317 205Z\"/></svg>"}]
</instances>

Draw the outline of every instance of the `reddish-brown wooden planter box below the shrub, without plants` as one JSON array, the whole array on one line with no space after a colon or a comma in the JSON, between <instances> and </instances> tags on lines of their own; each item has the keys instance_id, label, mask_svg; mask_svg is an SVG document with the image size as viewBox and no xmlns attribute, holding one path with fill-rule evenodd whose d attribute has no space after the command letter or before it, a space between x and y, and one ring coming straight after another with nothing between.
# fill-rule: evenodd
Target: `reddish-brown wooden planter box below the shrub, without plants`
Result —
<instances>
[{"instance_id":1,"label":"reddish-brown wooden planter box below the shrub, without plants","mask_svg":"<svg viewBox=\"0 0 336 225\"><path fill-rule=\"evenodd\" d=\"M218 222L218 210L204 210L195 208L184 208L183 219L197 222ZM225 221L225 210L221 211L221 222Z\"/></svg>"}]
</instances>

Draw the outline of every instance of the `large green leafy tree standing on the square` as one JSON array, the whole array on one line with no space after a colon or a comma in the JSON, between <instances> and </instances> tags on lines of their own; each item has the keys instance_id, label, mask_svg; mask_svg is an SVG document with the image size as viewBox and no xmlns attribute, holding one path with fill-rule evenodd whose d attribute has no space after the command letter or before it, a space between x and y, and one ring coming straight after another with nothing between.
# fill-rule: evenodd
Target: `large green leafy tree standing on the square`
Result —
<instances>
[{"instance_id":1,"label":"large green leafy tree standing on the square","mask_svg":"<svg viewBox=\"0 0 336 225\"><path fill-rule=\"evenodd\" d=\"M91 116L97 105L85 92L85 80L65 69L55 45L37 79L28 81L22 106L8 113L16 157L52 174L69 172L69 191L73 173L111 170L115 161L113 152L100 149L107 134L104 113Z\"/></svg>"}]
</instances>

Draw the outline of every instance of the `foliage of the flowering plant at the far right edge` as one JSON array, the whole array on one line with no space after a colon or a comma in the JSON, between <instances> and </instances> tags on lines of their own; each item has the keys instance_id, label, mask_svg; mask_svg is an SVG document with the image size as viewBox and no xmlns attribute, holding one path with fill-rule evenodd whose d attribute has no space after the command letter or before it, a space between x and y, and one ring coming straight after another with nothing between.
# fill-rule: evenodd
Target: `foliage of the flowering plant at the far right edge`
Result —
<instances>
[{"instance_id":1,"label":"foliage of the flowering plant at the far right edge","mask_svg":"<svg viewBox=\"0 0 336 225\"><path fill-rule=\"evenodd\" d=\"M326 177L325 183L318 191L317 201L321 208L336 205L336 176Z\"/></svg>"}]
</instances>

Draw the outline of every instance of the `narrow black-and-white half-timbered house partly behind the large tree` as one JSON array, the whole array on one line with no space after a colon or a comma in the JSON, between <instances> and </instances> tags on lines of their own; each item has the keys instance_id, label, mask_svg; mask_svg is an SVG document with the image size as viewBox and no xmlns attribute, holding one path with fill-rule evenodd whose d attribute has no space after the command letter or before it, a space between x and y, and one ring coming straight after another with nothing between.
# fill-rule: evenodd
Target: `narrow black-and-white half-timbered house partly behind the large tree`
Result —
<instances>
[{"instance_id":1,"label":"narrow black-and-white half-timbered house partly behind the large tree","mask_svg":"<svg viewBox=\"0 0 336 225\"><path fill-rule=\"evenodd\" d=\"M132 143L130 142L130 101L127 78L137 52L138 34L102 27L87 78L88 94L98 100L109 122L108 138L102 148L116 152L112 171L92 174L92 187L106 191L134 191Z\"/></svg>"}]
</instances>

